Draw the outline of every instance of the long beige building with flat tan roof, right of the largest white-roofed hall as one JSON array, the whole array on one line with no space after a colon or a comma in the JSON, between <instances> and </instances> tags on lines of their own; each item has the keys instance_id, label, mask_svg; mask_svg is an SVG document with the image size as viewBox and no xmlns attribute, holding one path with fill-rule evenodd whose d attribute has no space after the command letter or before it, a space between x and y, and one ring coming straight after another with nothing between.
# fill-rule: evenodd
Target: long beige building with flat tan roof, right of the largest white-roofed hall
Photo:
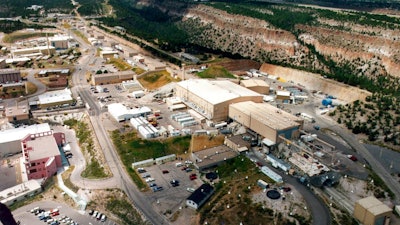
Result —
<instances>
[{"instance_id":1,"label":"long beige building with flat tan roof, right of the largest white-roofed hall","mask_svg":"<svg viewBox=\"0 0 400 225\"><path fill-rule=\"evenodd\" d=\"M298 138L303 127L302 119L267 103L230 104L229 117L263 136L268 146L282 142L280 135L287 139Z\"/></svg>"}]
</instances>

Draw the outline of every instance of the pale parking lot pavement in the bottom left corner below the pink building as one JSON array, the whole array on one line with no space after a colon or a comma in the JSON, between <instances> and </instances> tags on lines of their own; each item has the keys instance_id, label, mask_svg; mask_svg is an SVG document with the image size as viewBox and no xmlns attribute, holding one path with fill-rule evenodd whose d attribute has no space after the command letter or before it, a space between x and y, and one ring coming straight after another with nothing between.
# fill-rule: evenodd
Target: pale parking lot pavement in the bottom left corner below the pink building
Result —
<instances>
[{"instance_id":1,"label":"pale parking lot pavement in the bottom left corner below the pink building","mask_svg":"<svg viewBox=\"0 0 400 225\"><path fill-rule=\"evenodd\" d=\"M104 222L101 222L91 216L88 213L82 214L81 212L59 202L53 201L40 201L35 202L26 206L23 206L15 211L13 211L13 215L16 221L20 221L21 225L43 225L45 222L39 220L38 216L31 213L30 210L39 207L45 211L50 211L52 209L58 209L59 215L54 216L53 218L60 219L63 216L71 218L74 222L78 224L93 224L93 225L109 225L115 224L114 221L107 219ZM66 223L61 223L66 224Z\"/></svg>"}]
</instances>

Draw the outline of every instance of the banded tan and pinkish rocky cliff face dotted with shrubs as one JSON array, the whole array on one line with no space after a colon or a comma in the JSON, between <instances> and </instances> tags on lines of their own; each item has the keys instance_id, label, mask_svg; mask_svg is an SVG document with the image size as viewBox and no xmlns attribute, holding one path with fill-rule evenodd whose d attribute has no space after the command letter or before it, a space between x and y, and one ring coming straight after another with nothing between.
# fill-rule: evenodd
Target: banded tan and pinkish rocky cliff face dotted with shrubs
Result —
<instances>
[{"instance_id":1,"label":"banded tan and pinkish rocky cliff face dotted with shrubs","mask_svg":"<svg viewBox=\"0 0 400 225\"><path fill-rule=\"evenodd\" d=\"M393 26L363 25L363 18L359 19L361 22L343 22L321 17L313 23L295 25L292 33L266 20L230 14L202 4L181 11L168 8L167 4L157 4L157 7L180 15L179 26L190 34L190 42L210 49L260 62L329 72L326 63L320 61L323 56L338 66L348 66L358 76L400 77L400 29ZM268 10L260 9L260 12L272 15Z\"/></svg>"}]
</instances>

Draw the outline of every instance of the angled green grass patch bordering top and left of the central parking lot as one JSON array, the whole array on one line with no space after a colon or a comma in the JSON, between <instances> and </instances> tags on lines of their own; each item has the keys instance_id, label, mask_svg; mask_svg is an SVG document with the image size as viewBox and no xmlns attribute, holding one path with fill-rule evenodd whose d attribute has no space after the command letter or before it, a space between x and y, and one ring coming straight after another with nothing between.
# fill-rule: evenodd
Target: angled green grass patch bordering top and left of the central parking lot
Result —
<instances>
[{"instance_id":1,"label":"angled green grass patch bordering top and left of the central parking lot","mask_svg":"<svg viewBox=\"0 0 400 225\"><path fill-rule=\"evenodd\" d=\"M143 140L134 132L122 134L119 130L115 130L111 137L129 175L141 190L145 190L147 185L132 169L132 163L169 154L181 155L188 151L190 145L190 136L168 138L162 141Z\"/></svg>"}]
</instances>

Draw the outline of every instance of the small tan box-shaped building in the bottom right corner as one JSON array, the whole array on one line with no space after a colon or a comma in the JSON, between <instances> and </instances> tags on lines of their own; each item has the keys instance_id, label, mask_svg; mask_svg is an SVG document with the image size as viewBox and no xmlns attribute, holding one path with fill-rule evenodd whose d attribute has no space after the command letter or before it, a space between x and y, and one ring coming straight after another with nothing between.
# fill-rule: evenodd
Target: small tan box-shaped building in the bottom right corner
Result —
<instances>
[{"instance_id":1,"label":"small tan box-shaped building in the bottom right corner","mask_svg":"<svg viewBox=\"0 0 400 225\"><path fill-rule=\"evenodd\" d=\"M353 216L363 225L388 225L392 209L374 196L360 199L354 205Z\"/></svg>"}]
</instances>

